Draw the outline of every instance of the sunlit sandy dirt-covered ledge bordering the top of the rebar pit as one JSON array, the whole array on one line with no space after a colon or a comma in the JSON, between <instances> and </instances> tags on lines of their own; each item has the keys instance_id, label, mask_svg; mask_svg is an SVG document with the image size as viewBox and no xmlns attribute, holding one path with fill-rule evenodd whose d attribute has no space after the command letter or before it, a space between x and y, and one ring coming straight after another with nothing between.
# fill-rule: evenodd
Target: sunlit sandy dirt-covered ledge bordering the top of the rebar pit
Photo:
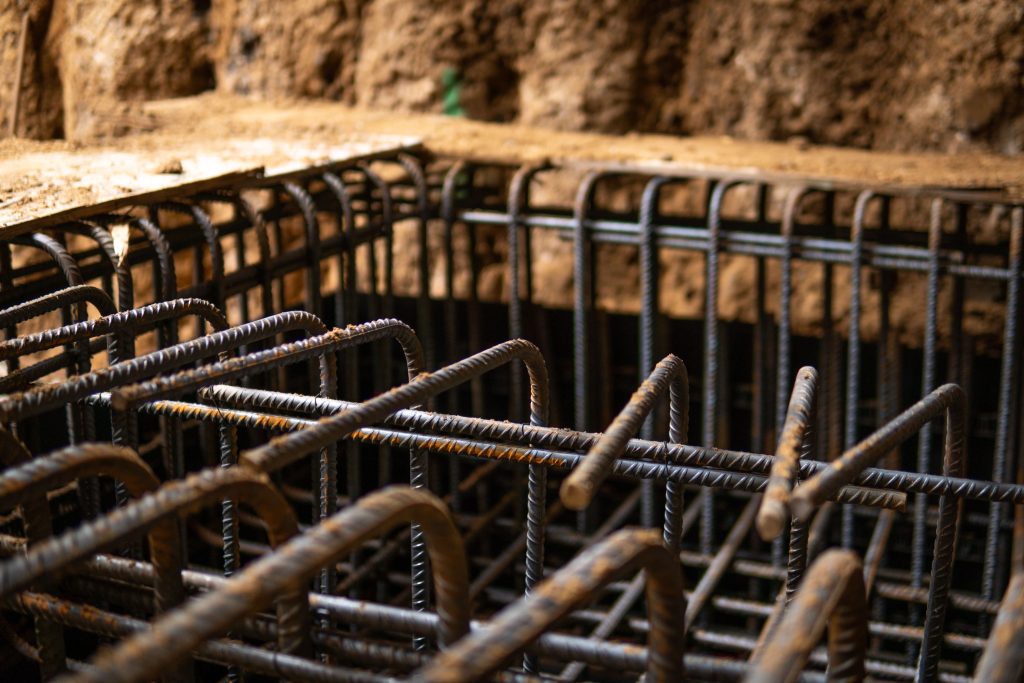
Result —
<instances>
[{"instance_id":1,"label":"sunlit sandy dirt-covered ledge bordering the top of the rebar pit","mask_svg":"<svg viewBox=\"0 0 1024 683\"><path fill-rule=\"evenodd\" d=\"M905 191L959 187L1024 198L1024 164L981 153L896 154L724 137L558 132L216 93L143 102L137 112L146 122L143 130L123 137L92 143L0 140L0 228L9 232L19 223L76 207L200 180L213 182L225 174L259 170L272 175L420 143L442 157L514 165L552 161L568 167L542 174L537 190L539 201L564 206L571 205L583 169L593 163L666 173L756 172L788 182L813 178ZM740 199L745 201L737 204L750 204L749 198ZM685 197L675 203L679 201Z\"/></svg>"}]
</instances>

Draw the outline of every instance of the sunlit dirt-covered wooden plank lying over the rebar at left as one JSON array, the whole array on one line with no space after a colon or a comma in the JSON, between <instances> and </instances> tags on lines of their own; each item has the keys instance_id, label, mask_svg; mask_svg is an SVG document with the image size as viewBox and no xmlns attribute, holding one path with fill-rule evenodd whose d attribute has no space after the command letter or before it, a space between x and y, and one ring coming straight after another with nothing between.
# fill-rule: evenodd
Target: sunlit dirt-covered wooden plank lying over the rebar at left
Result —
<instances>
[{"instance_id":1,"label":"sunlit dirt-covered wooden plank lying over the rebar at left","mask_svg":"<svg viewBox=\"0 0 1024 683\"><path fill-rule=\"evenodd\" d=\"M366 135L330 141L280 136L148 134L103 146L26 141L0 145L0 234L218 187L259 184L373 155L416 138ZM13 148L12 148L13 147Z\"/></svg>"}]
</instances>

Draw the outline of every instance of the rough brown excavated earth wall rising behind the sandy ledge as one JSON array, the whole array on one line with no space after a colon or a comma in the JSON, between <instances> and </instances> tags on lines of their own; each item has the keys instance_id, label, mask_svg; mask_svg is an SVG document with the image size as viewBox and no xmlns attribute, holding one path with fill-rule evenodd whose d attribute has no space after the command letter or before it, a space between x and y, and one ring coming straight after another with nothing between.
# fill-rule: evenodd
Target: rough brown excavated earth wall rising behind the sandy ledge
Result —
<instances>
[{"instance_id":1,"label":"rough brown excavated earth wall rising behind the sandy ledge","mask_svg":"<svg viewBox=\"0 0 1024 683\"><path fill-rule=\"evenodd\" d=\"M1017 0L6 0L0 130L144 129L216 88L565 130L889 150L1024 142Z\"/></svg>"}]
</instances>

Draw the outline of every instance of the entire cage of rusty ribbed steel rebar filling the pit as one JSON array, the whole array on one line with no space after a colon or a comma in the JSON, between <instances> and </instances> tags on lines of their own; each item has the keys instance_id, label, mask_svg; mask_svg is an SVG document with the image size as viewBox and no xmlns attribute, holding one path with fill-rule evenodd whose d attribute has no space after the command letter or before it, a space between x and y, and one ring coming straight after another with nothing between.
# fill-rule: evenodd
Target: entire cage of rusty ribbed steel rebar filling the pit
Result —
<instances>
[{"instance_id":1,"label":"entire cage of rusty ribbed steel rebar filling the pit","mask_svg":"<svg viewBox=\"0 0 1024 683\"><path fill-rule=\"evenodd\" d=\"M9 237L0 667L1019 680L1022 230L410 148Z\"/></svg>"}]
</instances>

